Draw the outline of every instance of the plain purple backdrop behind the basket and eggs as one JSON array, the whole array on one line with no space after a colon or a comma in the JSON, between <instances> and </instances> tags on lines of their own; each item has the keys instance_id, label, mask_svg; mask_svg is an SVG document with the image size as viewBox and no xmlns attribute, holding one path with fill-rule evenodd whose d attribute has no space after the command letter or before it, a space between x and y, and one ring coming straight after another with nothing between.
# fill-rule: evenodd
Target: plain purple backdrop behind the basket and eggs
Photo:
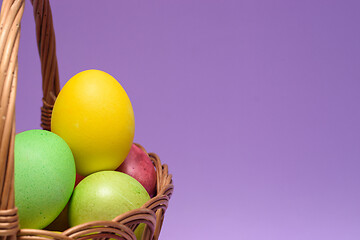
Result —
<instances>
[{"instance_id":1,"label":"plain purple backdrop behind the basket and eggs","mask_svg":"<svg viewBox=\"0 0 360 240\"><path fill-rule=\"evenodd\" d=\"M41 105L26 3L18 132ZM61 85L112 74L174 175L161 239L359 239L359 1L51 3Z\"/></svg>"}]
</instances>

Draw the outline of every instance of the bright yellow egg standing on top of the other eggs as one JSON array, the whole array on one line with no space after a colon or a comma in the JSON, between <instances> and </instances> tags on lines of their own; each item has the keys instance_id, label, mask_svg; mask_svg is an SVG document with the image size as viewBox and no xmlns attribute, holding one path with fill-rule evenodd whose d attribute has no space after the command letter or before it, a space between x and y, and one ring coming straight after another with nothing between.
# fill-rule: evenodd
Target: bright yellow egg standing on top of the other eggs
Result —
<instances>
[{"instance_id":1,"label":"bright yellow egg standing on top of the other eggs","mask_svg":"<svg viewBox=\"0 0 360 240\"><path fill-rule=\"evenodd\" d=\"M70 146L80 175L115 170L134 139L130 99L111 75L99 70L80 72L55 101L51 131Z\"/></svg>"}]
</instances>

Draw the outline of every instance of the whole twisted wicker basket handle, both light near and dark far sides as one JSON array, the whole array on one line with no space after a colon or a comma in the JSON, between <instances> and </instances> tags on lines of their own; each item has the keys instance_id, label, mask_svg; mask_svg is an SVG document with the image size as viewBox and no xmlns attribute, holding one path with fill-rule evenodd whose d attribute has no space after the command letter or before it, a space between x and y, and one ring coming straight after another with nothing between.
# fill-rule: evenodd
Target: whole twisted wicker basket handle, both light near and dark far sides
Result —
<instances>
[{"instance_id":1,"label":"whole twisted wicker basket handle, both light near and dark far sides","mask_svg":"<svg viewBox=\"0 0 360 240\"><path fill-rule=\"evenodd\" d=\"M41 126L50 130L52 107L60 91L55 34L49 0L31 0L41 59ZM14 196L15 98L20 23L25 0L3 0L0 14L0 239L16 239L19 230Z\"/></svg>"}]
</instances>

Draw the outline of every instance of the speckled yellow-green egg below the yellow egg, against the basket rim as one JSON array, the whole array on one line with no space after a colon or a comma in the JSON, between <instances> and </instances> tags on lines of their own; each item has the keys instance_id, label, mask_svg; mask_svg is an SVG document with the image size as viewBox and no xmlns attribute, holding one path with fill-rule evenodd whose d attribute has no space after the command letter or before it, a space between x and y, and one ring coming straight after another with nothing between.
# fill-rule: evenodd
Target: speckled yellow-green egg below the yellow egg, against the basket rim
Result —
<instances>
[{"instance_id":1,"label":"speckled yellow-green egg below the yellow egg, against the basket rim","mask_svg":"<svg viewBox=\"0 0 360 240\"><path fill-rule=\"evenodd\" d=\"M69 204L69 223L75 226L112 220L140 208L149 199L145 188L129 175L116 171L96 172L76 186Z\"/></svg>"}]
</instances>

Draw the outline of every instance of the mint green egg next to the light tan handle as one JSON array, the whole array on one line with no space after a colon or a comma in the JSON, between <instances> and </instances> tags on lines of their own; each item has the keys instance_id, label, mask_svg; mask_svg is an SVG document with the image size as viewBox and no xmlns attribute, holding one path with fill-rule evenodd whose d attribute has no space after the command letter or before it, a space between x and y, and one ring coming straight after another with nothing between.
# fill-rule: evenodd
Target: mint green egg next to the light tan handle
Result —
<instances>
[{"instance_id":1,"label":"mint green egg next to the light tan handle","mask_svg":"<svg viewBox=\"0 0 360 240\"><path fill-rule=\"evenodd\" d=\"M64 209L75 184L75 161L66 142L45 130L15 137L15 205L20 227L41 229Z\"/></svg>"}]
</instances>

